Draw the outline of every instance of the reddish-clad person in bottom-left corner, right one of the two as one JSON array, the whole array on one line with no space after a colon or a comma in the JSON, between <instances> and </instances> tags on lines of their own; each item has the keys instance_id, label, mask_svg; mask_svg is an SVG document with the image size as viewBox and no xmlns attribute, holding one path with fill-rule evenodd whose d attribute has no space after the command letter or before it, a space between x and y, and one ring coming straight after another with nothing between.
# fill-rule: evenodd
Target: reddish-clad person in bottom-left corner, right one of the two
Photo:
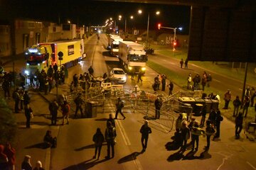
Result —
<instances>
[{"instance_id":1,"label":"reddish-clad person in bottom-left corner, right one of the two","mask_svg":"<svg viewBox=\"0 0 256 170\"><path fill-rule=\"evenodd\" d=\"M4 154L6 154L6 157L8 158L8 170L15 170L16 150L13 147L11 147L11 144L9 142L6 142L6 145L4 147Z\"/></svg>"}]
</instances>

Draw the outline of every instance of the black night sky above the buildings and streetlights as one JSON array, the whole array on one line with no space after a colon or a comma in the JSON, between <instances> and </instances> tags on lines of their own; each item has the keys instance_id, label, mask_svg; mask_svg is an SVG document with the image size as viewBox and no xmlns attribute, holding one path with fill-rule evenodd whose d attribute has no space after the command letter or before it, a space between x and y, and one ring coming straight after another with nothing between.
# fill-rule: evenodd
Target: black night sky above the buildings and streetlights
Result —
<instances>
[{"instance_id":1,"label":"black night sky above the buildings and streetlights","mask_svg":"<svg viewBox=\"0 0 256 170\"><path fill-rule=\"evenodd\" d=\"M127 16L127 27L146 28L147 13L150 13L150 28L156 29L157 23L167 27L183 27L188 31L190 19L190 6L171 6L161 4L137 4L112 1L93 0L0 0L0 17L31 18L41 21L72 23L85 26L102 26L107 18L118 18L118 15ZM139 15L137 11L144 13ZM161 11L160 16L155 12ZM129 20L133 15L134 20ZM124 21L117 25L124 27Z\"/></svg>"}]
</instances>

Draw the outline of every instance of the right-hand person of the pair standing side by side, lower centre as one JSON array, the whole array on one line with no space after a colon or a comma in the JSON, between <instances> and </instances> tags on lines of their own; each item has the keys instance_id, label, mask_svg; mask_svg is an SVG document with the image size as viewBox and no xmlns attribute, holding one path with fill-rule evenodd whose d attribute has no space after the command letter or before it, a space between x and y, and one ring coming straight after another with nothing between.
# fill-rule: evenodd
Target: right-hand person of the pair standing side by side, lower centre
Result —
<instances>
[{"instance_id":1,"label":"right-hand person of the pair standing side by side, lower centre","mask_svg":"<svg viewBox=\"0 0 256 170\"><path fill-rule=\"evenodd\" d=\"M108 122L107 128L105 130L105 140L107 141L107 156L106 159L110 159L110 149L112 151L112 158L114 157L114 144L115 144L115 137L117 137L117 132L114 126Z\"/></svg>"}]
</instances>

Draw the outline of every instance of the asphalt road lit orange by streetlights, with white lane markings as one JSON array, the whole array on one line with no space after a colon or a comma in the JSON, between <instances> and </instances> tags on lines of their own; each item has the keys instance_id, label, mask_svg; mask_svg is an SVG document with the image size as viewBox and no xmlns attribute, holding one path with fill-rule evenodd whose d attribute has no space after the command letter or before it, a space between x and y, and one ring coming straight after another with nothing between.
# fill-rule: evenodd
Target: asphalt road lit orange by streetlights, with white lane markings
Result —
<instances>
[{"instance_id":1,"label":"asphalt road lit orange by streetlights, with white lane markings","mask_svg":"<svg viewBox=\"0 0 256 170\"><path fill-rule=\"evenodd\" d=\"M109 73L112 67L119 67L116 58L102 54L107 54L105 45L107 38L100 35L100 42L97 42L96 36L87 40L85 50L87 58L75 67L70 68L69 77L66 81L70 83L73 74L87 72L88 67L92 64L96 75L102 75L104 72ZM159 58L160 60L160 58ZM177 69L177 68L176 68ZM201 72L197 70L196 72ZM185 72L182 70L182 72ZM151 91L151 84L158 73L147 68L146 74L142 77L143 82L139 87ZM184 73L186 74L186 72ZM128 76L129 77L129 76ZM124 88L133 88L136 81L127 79ZM54 89L55 90L55 89ZM174 91L178 91L175 87ZM60 91L68 91L68 84L62 86ZM44 98L53 98L53 94ZM166 132L161 125L149 123L152 128L152 134L149 135L148 148L143 154L140 153L142 146L140 143L139 128L143 124L143 114L133 113L126 110L125 120L117 120L117 145L115 145L114 159L105 160L107 146L103 145L100 160L92 159L94 154L92 135L96 128L101 128L105 132L106 118L109 113L99 113L97 118L78 118L73 119L71 113L69 125L48 126L48 102L43 100L42 96L33 94L33 103L35 109L35 118L33 119L32 128L24 128L25 118L23 114L16 114L18 120L17 135L17 168L20 169L23 156L31 154L32 165L37 160L41 160L46 170L53 169L256 169L254 142L246 139L241 135L240 140L234 138L234 124L224 119L221 124L220 140L211 142L210 151L204 152L203 147L206 145L206 138L200 137L198 152L178 152L178 150L167 150L165 145L171 142L171 136L174 131ZM60 113L59 113L60 116ZM200 118L198 118L200 120ZM58 121L60 124L60 120ZM46 130L52 130L53 136L58 137L58 147L55 149L41 149L38 144L43 141L43 135Z\"/></svg>"}]
</instances>

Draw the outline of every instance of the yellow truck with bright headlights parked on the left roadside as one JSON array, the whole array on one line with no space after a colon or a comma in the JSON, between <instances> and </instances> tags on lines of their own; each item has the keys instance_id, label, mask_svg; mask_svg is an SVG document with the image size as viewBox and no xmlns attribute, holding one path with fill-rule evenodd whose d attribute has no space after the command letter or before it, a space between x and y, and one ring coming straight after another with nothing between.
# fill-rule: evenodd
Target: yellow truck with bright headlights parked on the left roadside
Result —
<instances>
[{"instance_id":1,"label":"yellow truck with bright headlights parked on the left roadside","mask_svg":"<svg viewBox=\"0 0 256 170\"><path fill-rule=\"evenodd\" d=\"M42 42L28 47L25 51L26 70L25 74L33 74L36 69L41 72L47 71L50 65L55 63L66 68L72 67L86 57L84 52L84 42L78 40L61 40L56 42Z\"/></svg>"}]
</instances>

